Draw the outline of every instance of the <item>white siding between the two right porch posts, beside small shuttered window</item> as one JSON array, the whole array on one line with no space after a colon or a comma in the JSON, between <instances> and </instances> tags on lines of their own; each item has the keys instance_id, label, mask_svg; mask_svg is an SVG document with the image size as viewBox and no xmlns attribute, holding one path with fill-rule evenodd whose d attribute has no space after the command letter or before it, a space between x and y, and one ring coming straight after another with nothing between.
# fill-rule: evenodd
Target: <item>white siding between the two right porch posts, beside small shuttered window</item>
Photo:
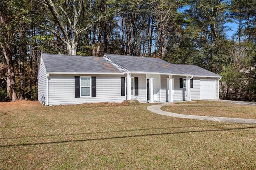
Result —
<instances>
[{"instance_id":1,"label":"white siding between the two right porch posts, beside small shuttered window","mask_svg":"<svg viewBox=\"0 0 256 170\"><path fill-rule=\"evenodd\" d=\"M180 88L180 78L186 78L186 77L173 76L173 78L174 78L173 100L174 101L185 100L187 98L187 92L186 92L186 88Z\"/></svg>"}]
</instances>

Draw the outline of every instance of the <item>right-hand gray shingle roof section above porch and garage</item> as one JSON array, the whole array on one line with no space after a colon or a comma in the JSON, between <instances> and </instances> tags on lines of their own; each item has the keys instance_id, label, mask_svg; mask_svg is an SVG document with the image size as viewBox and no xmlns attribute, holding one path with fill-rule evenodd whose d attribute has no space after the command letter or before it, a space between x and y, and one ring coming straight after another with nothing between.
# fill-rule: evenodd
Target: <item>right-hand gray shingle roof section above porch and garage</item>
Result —
<instances>
[{"instance_id":1,"label":"right-hand gray shingle roof section above porch and garage","mask_svg":"<svg viewBox=\"0 0 256 170\"><path fill-rule=\"evenodd\" d=\"M105 55L118 65L132 72L170 73L220 77L220 75L212 73L211 71L208 71L196 65L171 64L162 59L150 57L114 54Z\"/></svg>"}]
</instances>

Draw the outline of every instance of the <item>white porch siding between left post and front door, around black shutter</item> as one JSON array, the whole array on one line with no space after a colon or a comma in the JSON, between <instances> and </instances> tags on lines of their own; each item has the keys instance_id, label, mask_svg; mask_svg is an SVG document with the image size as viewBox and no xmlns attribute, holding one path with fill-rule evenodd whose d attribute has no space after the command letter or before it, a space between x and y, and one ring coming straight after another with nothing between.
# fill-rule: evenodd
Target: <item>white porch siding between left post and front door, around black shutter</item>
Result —
<instances>
[{"instance_id":1,"label":"white porch siding between left post and front door, around black shutter","mask_svg":"<svg viewBox=\"0 0 256 170\"><path fill-rule=\"evenodd\" d=\"M146 102L147 100L147 82L146 82L146 75L145 74L132 74L132 77L138 77L138 88L139 88L139 95L138 96L131 96L131 99L136 99L139 102Z\"/></svg>"}]
</instances>

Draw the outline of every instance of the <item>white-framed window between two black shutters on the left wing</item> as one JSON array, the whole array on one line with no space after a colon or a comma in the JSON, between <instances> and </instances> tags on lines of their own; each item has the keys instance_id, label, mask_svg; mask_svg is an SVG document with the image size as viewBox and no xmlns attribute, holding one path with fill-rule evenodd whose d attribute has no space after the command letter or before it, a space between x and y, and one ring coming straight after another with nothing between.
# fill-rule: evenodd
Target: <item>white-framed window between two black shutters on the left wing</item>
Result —
<instances>
[{"instance_id":1,"label":"white-framed window between two black shutters on the left wing","mask_svg":"<svg viewBox=\"0 0 256 170\"><path fill-rule=\"evenodd\" d=\"M90 97L92 94L91 90L92 80L91 77L80 77L80 96Z\"/></svg>"}]
</instances>

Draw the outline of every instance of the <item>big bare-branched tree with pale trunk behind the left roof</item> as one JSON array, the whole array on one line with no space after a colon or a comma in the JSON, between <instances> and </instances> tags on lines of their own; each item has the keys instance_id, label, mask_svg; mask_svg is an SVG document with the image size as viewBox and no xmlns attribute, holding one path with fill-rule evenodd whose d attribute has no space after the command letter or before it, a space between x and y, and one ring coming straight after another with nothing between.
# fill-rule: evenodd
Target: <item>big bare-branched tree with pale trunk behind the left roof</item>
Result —
<instances>
[{"instance_id":1,"label":"big bare-branched tree with pale trunk behind the left roof","mask_svg":"<svg viewBox=\"0 0 256 170\"><path fill-rule=\"evenodd\" d=\"M78 40L82 34L90 30L97 22L120 10L115 9L96 15L96 10L94 10L96 2L91 0L38 1L48 7L52 17L36 25L48 30L61 40L66 45L68 55L76 55Z\"/></svg>"}]
</instances>

